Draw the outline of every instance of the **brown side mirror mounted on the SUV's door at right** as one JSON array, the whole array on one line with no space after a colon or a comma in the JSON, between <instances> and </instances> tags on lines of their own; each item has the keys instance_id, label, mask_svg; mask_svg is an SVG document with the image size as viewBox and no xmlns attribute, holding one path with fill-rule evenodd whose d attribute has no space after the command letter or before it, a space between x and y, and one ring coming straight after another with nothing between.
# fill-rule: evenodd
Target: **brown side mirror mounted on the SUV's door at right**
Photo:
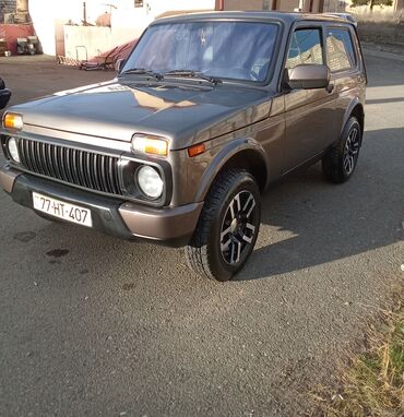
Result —
<instances>
[{"instance_id":1,"label":"brown side mirror mounted on the SUV's door at right","mask_svg":"<svg viewBox=\"0 0 404 417\"><path fill-rule=\"evenodd\" d=\"M330 84L329 67L309 63L292 69L287 84L290 88L326 88Z\"/></svg>"}]
</instances>

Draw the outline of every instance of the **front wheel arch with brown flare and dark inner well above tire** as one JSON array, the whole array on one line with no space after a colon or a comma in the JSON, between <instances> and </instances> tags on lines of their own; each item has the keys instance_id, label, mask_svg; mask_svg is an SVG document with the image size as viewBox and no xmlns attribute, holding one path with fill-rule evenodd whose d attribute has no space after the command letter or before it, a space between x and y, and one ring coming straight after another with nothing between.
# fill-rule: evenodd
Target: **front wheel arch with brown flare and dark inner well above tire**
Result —
<instances>
[{"instance_id":1,"label":"front wheel arch with brown flare and dark inner well above tire","mask_svg":"<svg viewBox=\"0 0 404 417\"><path fill-rule=\"evenodd\" d=\"M253 139L239 139L224 146L203 172L194 201L203 201L213 181L224 169L247 169L262 192L269 182L269 160L263 147Z\"/></svg>"}]
</instances>

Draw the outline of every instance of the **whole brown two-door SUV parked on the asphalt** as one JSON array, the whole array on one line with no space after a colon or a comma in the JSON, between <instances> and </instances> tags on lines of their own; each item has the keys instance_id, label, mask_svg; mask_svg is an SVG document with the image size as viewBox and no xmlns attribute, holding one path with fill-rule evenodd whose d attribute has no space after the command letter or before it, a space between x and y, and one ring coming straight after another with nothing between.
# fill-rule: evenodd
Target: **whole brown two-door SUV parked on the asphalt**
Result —
<instances>
[{"instance_id":1,"label":"whole brown two-door SUV parked on the asphalt","mask_svg":"<svg viewBox=\"0 0 404 417\"><path fill-rule=\"evenodd\" d=\"M186 246L193 271L226 281L252 252L270 182L319 159L333 182L355 170L366 71L343 19L162 19L119 67L110 82L4 114L0 183L15 202Z\"/></svg>"}]
</instances>

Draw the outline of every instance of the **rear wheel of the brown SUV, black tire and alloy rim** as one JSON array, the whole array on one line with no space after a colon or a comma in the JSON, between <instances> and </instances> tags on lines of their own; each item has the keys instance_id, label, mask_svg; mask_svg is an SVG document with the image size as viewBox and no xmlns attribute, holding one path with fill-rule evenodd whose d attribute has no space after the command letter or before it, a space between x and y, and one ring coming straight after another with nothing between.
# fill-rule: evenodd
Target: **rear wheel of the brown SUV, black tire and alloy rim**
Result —
<instances>
[{"instance_id":1,"label":"rear wheel of the brown SUV, black tire and alloy rim","mask_svg":"<svg viewBox=\"0 0 404 417\"><path fill-rule=\"evenodd\" d=\"M335 183L347 181L355 171L360 144L360 124L355 117L350 117L338 141L322 158L322 170L325 178Z\"/></svg>"}]
</instances>

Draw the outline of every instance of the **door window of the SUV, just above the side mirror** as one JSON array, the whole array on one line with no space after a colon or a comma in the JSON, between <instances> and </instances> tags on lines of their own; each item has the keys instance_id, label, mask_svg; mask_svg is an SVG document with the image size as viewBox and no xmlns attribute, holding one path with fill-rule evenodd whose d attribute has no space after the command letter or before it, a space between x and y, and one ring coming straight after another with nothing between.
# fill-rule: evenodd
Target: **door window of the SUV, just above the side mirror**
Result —
<instances>
[{"instance_id":1,"label":"door window of the SUV, just above the side mirror","mask_svg":"<svg viewBox=\"0 0 404 417\"><path fill-rule=\"evenodd\" d=\"M297 29L293 34L286 68L305 63L324 63L320 29Z\"/></svg>"}]
</instances>

